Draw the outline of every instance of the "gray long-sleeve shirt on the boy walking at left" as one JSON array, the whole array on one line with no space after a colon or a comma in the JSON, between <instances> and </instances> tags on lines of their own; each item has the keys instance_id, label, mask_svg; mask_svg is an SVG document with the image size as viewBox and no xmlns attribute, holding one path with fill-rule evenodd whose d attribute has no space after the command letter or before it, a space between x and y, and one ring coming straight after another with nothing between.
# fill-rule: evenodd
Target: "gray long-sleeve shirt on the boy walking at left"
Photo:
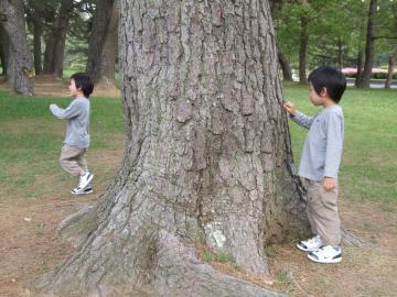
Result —
<instances>
[{"instance_id":1,"label":"gray long-sleeve shirt on the boy walking at left","mask_svg":"<svg viewBox=\"0 0 397 297\"><path fill-rule=\"evenodd\" d=\"M51 105L50 110L56 118L68 120L64 144L88 148L89 100L79 97L74 99L66 109Z\"/></svg>"}]
</instances>

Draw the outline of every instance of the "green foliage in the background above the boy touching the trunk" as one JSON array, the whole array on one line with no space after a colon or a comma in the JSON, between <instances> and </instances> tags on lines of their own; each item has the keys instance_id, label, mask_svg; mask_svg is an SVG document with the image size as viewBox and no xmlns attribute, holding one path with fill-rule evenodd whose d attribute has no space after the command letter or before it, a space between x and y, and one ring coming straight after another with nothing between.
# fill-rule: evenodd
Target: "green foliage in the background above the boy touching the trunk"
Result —
<instances>
[{"instance_id":1,"label":"green foliage in the background above the boy touching the trunk","mask_svg":"<svg viewBox=\"0 0 397 297\"><path fill-rule=\"evenodd\" d=\"M273 12L277 41L294 67L299 63L301 18L309 21L309 68L323 64L340 66L341 57L342 67L356 65L358 50L365 43L366 18L363 15L367 15L368 0L288 0L282 3L281 11ZM396 1L379 0L376 22L383 28L380 35L396 32ZM385 65L383 56L397 48L395 41L379 41L375 65Z\"/></svg>"}]
</instances>

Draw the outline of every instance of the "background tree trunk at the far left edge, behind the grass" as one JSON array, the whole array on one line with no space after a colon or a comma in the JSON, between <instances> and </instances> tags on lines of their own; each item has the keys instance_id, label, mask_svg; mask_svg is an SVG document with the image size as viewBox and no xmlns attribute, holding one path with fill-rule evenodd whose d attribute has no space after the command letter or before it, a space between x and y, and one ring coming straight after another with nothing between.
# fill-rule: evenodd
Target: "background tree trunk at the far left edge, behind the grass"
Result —
<instances>
[{"instance_id":1,"label":"background tree trunk at the far left edge, behind the grass","mask_svg":"<svg viewBox=\"0 0 397 297\"><path fill-rule=\"evenodd\" d=\"M33 95L32 55L29 51L22 0L0 0L0 21L8 36L7 78L14 91Z\"/></svg>"}]
</instances>

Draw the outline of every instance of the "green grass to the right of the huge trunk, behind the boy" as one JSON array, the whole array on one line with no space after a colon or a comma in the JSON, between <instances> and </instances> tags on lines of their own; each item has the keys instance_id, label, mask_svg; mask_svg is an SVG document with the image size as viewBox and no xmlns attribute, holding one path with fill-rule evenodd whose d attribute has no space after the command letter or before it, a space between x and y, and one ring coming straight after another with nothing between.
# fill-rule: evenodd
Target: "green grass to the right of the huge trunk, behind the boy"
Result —
<instances>
[{"instance_id":1,"label":"green grass to the right of the huge trunk, behind the boy","mask_svg":"<svg viewBox=\"0 0 397 297\"><path fill-rule=\"evenodd\" d=\"M321 108L310 103L307 87L288 86L287 100L307 114ZM347 88L341 106L345 117L341 195L356 201L397 201L397 91ZM289 124L294 160L299 163L307 131Z\"/></svg>"}]
</instances>

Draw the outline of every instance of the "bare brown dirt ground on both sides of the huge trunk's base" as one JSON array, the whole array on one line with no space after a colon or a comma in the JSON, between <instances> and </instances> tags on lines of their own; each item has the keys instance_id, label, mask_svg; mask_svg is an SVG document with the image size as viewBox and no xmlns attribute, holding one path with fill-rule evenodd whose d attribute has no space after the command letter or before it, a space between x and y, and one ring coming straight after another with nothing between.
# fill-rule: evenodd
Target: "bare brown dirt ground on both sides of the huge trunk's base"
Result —
<instances>
[{"instance_id":1,"label":"bare brown dirt ground on both sides of the huge trunk's base","mask_svg":"<svg viewBox=\"0 0 397 297\"><path fill-rule=\"evenodd\" d=\"M114 162L116 167L118 161ZM105 184L89 196L54 190L50 197L9 197L0 202L1 297L34 296L34 278L73 253L56 237L56 227L81 204L95 202L106 191ZM341 202L344 227L375 243L377 249L345 248L341 264L320 265L308 261L292 243L279 245L270 255L271 276L264 286L287 290L291 296L396 296L397 217L380 208L374 202ZM260 283L258 278L254 280Z\"/></svg>"}]
</instances>

